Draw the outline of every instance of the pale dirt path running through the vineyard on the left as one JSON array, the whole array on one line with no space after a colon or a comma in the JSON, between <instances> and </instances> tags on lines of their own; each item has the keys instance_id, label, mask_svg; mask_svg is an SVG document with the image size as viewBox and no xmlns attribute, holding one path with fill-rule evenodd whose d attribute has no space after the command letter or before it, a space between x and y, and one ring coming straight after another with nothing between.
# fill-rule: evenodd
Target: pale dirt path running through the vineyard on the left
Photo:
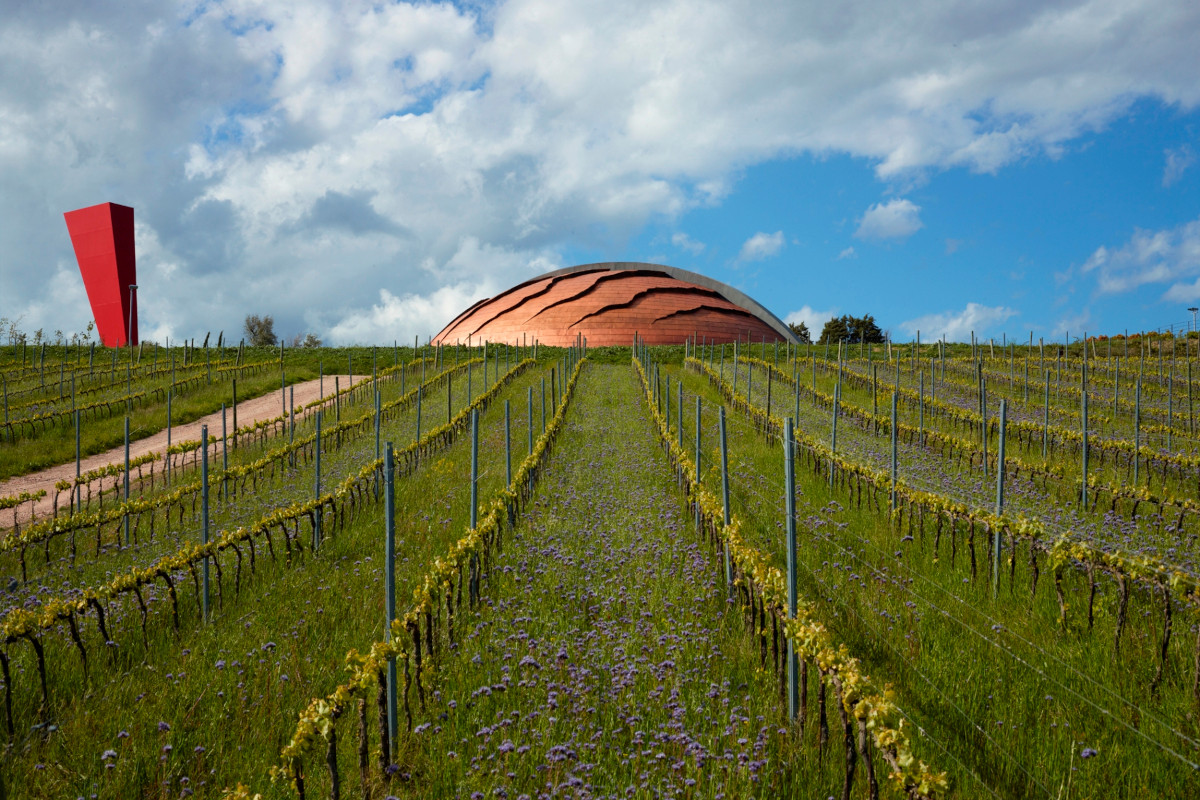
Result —
<instances>
[{"instance_id":1,"label":"pale dirt path running through the vineyard on the left","mask_svg":"<svg viewBox=\"0 0 1200 800\"><path fill-rule=\"evenodd\" d=\"M325 390L328 395L332 395L335 375L325 375ZM348 375L337 375L342 386L346 386ZM370 380L371 375L354 375L354 383L358 384L362 380ZM289 390L293 387L289 386ZM301 416L300 408L318 399L320 397L320 379L307 380L301 384L294 384L295 390L295 407L296 416ZM246 426L252 425L259 420L269 420L271 417L278 416L282 404L280 402L280 396L274 391L268 392L260 397L254 397L253 399L242 401L238 403L238 425ZM310 414L316 409L308 409L304 414ZM229 417L232 420L232 417ZM186 425L173 425L170 427L170 439L174 443L179 441L199 441L200 439L200 426L209 426L209 435L218 434L221 432L221 413L209 414L203 416L194 422L187 422ZM145 439L137 439L130 443L130 458L137 458L138 456L144 456L149 452L166 453L167 452L167 431L166 428L158 433L151 434ZM79 469L82 473L96 469L98 467L106 467L108 464L124 464L125 463L125 446L114 447L108 452L96 453L95 456L88 456L84 458ZM23 492L37 492L40 489L46 489L46 497L32 504L32 509L29 503L23 503L17 510L17 522L24 525L34 517L43 517L50 515L54 511L54 485L59 481L70 481L74 479L74 461L67 462L65 464L59 464L56 467L50 467L49 469L43 469L38 473L30 473L28 475L18 475L17 477L8 479L7 481L0 481L0 497L17 495ZM12 528L12 510L2 512L2 518L0 518L0 531L11 530ZM2 535L2 533L0 533Z\"/></svg>"}]
</instances>

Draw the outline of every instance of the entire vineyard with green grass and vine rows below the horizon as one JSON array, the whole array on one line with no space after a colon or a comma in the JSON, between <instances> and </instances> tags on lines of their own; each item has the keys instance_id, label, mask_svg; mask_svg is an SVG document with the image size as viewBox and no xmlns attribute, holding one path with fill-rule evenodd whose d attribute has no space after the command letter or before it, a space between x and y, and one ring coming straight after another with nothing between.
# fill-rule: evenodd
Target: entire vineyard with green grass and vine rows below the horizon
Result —
<instances>
[{"instance_id":1,"label":"entire vineyard with green grass and vine rows below the horizon","mask_svg":"<svg viewBox=\"0 0 1200 800\"><path fill-rule=\"evenodd\" d=\"M1198 360L0 348L0 796L1200 796Z\"/></svg>"}]
</instances>

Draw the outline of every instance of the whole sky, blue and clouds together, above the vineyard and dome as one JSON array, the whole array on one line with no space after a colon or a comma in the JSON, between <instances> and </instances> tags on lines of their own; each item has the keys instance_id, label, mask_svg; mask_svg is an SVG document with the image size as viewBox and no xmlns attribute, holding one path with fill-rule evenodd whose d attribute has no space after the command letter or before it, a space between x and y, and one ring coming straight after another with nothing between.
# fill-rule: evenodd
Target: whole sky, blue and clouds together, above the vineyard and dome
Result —
<instances>
[{"instance_id":1,"label":"whole sky, blue and clouds together, above the vineyard and dome","mask_svg":"<svg viewBox=\"0 0 1200 800\"><path fill-rule=\"evenodd\" d=\"M86 325L61 213L112 200L158 341L404 341L594 260L901 341L1180 325L1196 41L1176 0L25 4L0 317Z\"/></svg>"}]
</instances>

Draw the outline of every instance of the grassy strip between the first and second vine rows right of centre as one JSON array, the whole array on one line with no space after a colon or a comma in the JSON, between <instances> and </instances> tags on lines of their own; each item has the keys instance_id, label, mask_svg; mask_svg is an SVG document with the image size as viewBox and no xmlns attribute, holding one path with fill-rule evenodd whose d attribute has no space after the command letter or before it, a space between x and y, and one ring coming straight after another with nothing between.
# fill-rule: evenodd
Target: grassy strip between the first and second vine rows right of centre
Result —
<instances>
[{"instance_id":1,"label":"grassy strip between the first and second vine rows right of centre","mask_svg":"<svg viewBox=\"0 0 1200 800\"><path fill-rule=\"evenodd\" d=\"M695 372L664 365L661 375L671 378L673 408L677 381L684 381L689 451L701 397L702 468L708 481L719 481L715 411L727 399ZM793 410L790 402L785 408ZM734 509L757 523L745 535L772 548L782 565L782 449L743 415L731 411L727 426ZM828 443L828 420L809 433ZM847 447L845 455L859 453ZM1066 565L1060 604L1046 563L1034 584L1024 552L1009 560L1006 537L994 599L983 527L952 533L931 519L893 519L886 492L872 500L841 471L830 487L827 464L798 470L803 594L818 600L822 619L872 676L893 684L898 703L934 752L941 751L936 760L960 790L1052 796L1069 784L1082 796L1194 792L1194 609L1175 608L1174 624L1184 632L1166 644L1165 670L1156 678L1164 646L1156 593L1130 593L1128 624L1115 648L1121 603L1114 582L1099 578L1090 601L1086 572ZM1032 596L1031 584L1039 587Z\"/></svg>"}]
</instances>

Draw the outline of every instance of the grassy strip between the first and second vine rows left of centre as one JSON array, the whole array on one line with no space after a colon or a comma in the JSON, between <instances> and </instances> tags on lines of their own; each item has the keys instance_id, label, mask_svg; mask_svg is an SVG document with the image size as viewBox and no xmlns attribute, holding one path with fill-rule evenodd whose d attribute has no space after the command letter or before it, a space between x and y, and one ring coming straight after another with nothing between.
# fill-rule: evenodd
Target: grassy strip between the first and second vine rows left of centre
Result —
<instances>
[{"instance_id":1,"label":"grassy strip between the first and second vine rows left of centre","mask_svg":"<svg viewBox=\"0 0 1200 800\"><path fill-rule=\"evenodd\" d=\"M514 453L520 456L528 433L528 391L534 389L536 403L550 366L504 385L481 414L480 447L488 453L480 474L484 498L506 480L504 401L522 411L511 415ZM475 387L476 397L480 390ZM347 459L373 459L373 432L361 439L343 449ZM469 435L460 435L397 481L396 579L402 596L412 594L428 561L467 524L469 461ZM311 477L310 470L294 481L295 491L311 492ZM264 493L238 498L239 505L264 504L262 509L271 503ZM12 738L18 750L6 757L6 786L19 787L25 793L19 796L126 798L218 796L238 780L266 783L281 740L308 698L336 685L347 649L382 631L383 529L382 503L368 489L344 524L330 524L316 557L304 541L302 552L284 558L276 536L278 559L268 558L260 543L257 570L242 571L238 591L226 559L220 590L214 575L208 625L199 619L186 572L175 576L178 631L163 584L145 593L144 642L137 603L130 597L114 602L107 624L115 645L104 645L94 620L82 624L86 667L67 626L59 625L41 637L47 706L29 643L10 644L12 716L19 727ZM38 597L26 602L36 607Z\"/></svg>"}]
</instances>

